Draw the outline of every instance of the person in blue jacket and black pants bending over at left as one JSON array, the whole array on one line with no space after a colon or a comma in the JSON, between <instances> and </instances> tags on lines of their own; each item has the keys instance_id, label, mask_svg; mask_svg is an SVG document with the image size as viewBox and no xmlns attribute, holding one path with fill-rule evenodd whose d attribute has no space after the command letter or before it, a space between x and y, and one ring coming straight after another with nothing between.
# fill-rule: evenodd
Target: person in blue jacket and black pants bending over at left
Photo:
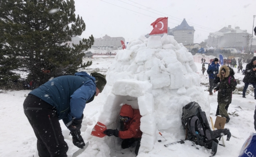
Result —
<instances>
[{"instance_id":1,"label":"person in blue jacket and black pants bending over at left","mask_svg":"<svg viewBox=\"0 0 256 157\"><path fill-rule=\"evenodd\" d=\"M59 120L70 130L73 144L85 146L80 135L83 111L105 85L106 77L100 73L78 72L56 77L29 93L23 108L37 137L39 157L67 157Z\"/></svg>"}]
</instances>

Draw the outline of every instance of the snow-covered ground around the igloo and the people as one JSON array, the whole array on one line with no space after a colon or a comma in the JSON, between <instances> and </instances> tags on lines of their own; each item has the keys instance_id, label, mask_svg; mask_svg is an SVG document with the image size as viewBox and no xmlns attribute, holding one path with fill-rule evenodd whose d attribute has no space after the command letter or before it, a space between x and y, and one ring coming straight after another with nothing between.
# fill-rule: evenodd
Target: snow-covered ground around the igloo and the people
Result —
<instances>
[{"instance_id":1,"label":"snow-covered ground around the igloo and the people","mask_svg":"<svg viewBox=\"0 0 256 157\"><path fill-rule=\"evenodd\" d=\"M93 64L83 69L84 71L101 71L106 73L108 68L113 63L113 58L84 58L84 62L88 60L93 60ZM205 72L205 75L202 75L201 64L196 63L197 73L201 78L201 88L206 94L208 94L208 76ZM245 68L246 64L243 65ZM206 64L207 68L207 64ZM242 80L242 73L237 73L237 68L234 68L236 72L235 78ZM238 88L243 87L243 82L238 84ZM249 90L248 90L249 91ZM1 128L0 128L0 156L1 157L38 157L37 153L37 139L33 133L29 122L27 121L26 116L23 112L23 102L26 98L25 96L29 93L29 90L22 91L7 91L7 93L0 93L0 119L1 119ZM238 93L241 93L238 91ZM217 93L214 93L213 96L208 96L210 100L210 116L215 121L215 113L217 108ZM120 140L116 138L116 145L114 149L109 149L108 145L103 142L103 139L93 137L90 135L91 130L95 123L98 120L100 111L102 110L102 105L106 100L106 95L104 93L99 94L93 102L86 104L84 110L84 120L82 122L82 137L85 141L89 141L89 146L84 153L79 155L80 157L135 157L135 154L132 152L135 150L133 148L127 148L125 150L120 149ZM185 105L185 104L184 104ZM238 156L240 149L249 137L251 132L254 130L254 109L256 105L256 100L254 100L253 92L250 92L247 95L247 98L242 98L241 95L233 94L232 103L229 106L229 113L236 111L238 116L231 116L230 122L225 125L225 128L229 128L232 135L237 138L231 137L230 141L225 141L226 147L218 146L218 152L216 157L234 157ZM208 120L210 120L208 118ZM60 121L62 127L62 133L65 137L65 141L68 143L68 157L71 157L73 152L78 150L76 146L72 143L71 135L69 135L69 130L64 126L63 122ZM183 133L183 130L180 130ZM199 148L197 150L192 145L192 142L186 141L185 144L175 144L169 147L165 147L164 144L171 142L179 141L174 134L162 132L163 137L160 135L157 136L157 141L162 140L162 142L155 142L154 148L149 153L141 153L138 157L206 157L210 155L211 150L206 149L205 147L196 146ZM114 137L113 137L114 138ZM184 135L185 138L185 135ZM183 138L183 139L184 139ZM97 140L96 140L97 139ZM226 139L224 137L224 139ZM101 142L102 140L102 142ZM222 144L222 141L220 141Z\"/></svg>"}]
</instances>

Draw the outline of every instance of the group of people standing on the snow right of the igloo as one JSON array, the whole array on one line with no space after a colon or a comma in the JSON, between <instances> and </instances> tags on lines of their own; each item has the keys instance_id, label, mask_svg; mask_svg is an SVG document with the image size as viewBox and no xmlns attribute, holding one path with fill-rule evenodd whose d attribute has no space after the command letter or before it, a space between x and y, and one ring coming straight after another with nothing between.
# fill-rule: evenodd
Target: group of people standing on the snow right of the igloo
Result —
<instances>
[{"instance_id":1,"label":"group of people standing on the snow right of the igloo","mask_svg":"<svg viewBox=\"0 0 256 157\"><path fill-rule=\"evenodd\" d=\"M231 63L230 65L234 67L236 65L235 58L227 59ZM249 61L249 59L248 59ZM246 65L245 70L243 70L242 58L238 59L238 73L240 70L243 71L245 77L243 78L243 82L245 86L243 88L243 98L246 98L246 91L248 86L251 84L254 88L254 99L256 99L256 57L253 57L249 64ZM214 89L214 93L218 91L218 108L216 111L216 116L221 115L221 117L225 117L226 123L229 122L229 114L227 113L229 104L232 101L232 92L236 89L236 79L234 78L234 70L229 67L229 65L223 65L220 68L219 59L214 58L210 66L208 66L207 73L209 75L209 95L213 95L212 90ZM202 66L202 71L206 70L205 66ZM218 84L219 83L219 84Z\"/></svg>"}]
</instances>

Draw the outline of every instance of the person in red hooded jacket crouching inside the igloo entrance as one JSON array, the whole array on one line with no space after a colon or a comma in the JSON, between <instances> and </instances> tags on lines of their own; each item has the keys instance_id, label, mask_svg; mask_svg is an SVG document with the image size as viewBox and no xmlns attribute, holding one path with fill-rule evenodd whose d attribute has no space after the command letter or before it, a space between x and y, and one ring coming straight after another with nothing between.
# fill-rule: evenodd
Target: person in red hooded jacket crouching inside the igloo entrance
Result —
<instances>
[{"instance_id":1,"label":"person in red hooded jacket crouching inside the igloo entrance","mask_svg":"<svg viewBox=\"0 0 256 157\"><path fill-rule=\"evenodd\" d=\"M121 129L119 131L117 129L107 129L104 133L108 136L114 135L115 137L123 139L121 144L123 149L129 148L135 141L138 141L135 148L135 154L138 155L142 136L142 132L140 130L141 117L139 110L133 109L132 106L128 104L124 104L119 115L121 120Z\"/></svg>"}]
</instances>

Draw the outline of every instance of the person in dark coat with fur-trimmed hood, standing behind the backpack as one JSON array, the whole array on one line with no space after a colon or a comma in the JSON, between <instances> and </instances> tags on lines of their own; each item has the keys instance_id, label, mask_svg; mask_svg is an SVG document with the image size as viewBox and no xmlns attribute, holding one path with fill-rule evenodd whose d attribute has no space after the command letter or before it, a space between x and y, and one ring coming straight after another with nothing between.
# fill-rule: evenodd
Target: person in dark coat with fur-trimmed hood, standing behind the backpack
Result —
<instances>
[{"instance_id":1,"label":"person in dark coat with fur-trimmed hood, standing behind the backpack","mask_svg":"<svg viewBox=\"0 0 256 157\"><path fill-rule=\"evenodd\" d=\"M214 89L214 93L218 91L219 113L221 117L227 118L226 123L228 123L230 118L225 106L232 101L232 92L236 89L236 80L230 76L229 67L226 65L221 66L219 73L220 82Z\"/></svg>"}]
</instances>

